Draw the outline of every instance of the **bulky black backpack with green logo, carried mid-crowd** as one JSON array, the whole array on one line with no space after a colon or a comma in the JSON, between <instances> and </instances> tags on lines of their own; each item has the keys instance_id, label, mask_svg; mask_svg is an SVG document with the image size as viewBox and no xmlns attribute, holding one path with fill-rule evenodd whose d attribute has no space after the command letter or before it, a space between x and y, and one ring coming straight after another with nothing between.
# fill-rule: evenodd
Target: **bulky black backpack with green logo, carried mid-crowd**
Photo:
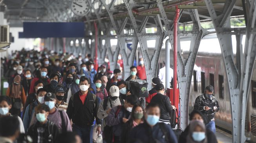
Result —
<instances>
[{"instance_id":1,"label":"bulky black backpack with green logo, carried mid-crowd","mask_svg":"<svg viewBox=\"0 0 256 143\"><path fill-rule=\"evenodd\" d=\"M128 90L132 95L137 95L137 97L148 97L149 92L147 90L147 82L140 79L132 79L128 82Z\"/></svg>"}]
</instances>

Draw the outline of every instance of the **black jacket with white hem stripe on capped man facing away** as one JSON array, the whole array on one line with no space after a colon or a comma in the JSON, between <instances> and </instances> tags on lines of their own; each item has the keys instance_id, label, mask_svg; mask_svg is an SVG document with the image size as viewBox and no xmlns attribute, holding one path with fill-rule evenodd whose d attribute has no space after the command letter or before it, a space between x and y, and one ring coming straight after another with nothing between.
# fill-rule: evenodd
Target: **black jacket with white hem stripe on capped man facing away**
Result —
<instances>
[{"instance_id":1,"label":"black jacket with white hem stripe on capped man facing away","mask_svg":"<svg viewBox=\"0 0 256 143\"><path fill-rule=\"evenodd\" d=\"M158 104L160 107L161 115L159 121L170 122L170 111L172 110L170 98L161 93L157 93L150 103Z\"/></svg>"}]
</instances>

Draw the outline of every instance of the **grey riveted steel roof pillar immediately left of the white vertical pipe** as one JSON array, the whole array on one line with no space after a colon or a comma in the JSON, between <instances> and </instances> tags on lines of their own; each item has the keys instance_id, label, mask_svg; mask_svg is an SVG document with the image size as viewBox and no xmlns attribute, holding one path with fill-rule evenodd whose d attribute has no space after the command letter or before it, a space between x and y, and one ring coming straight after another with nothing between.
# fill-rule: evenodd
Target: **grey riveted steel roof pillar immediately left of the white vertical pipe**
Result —
<instances>
[{"instance_id":1,"label":"grey riveted steel roof pillar immediately left of the white vertical pipe","mask_svg":"<svg viewBox=\"0 0 256 143\"><path fill-rule=\"evenodd\" d=\"M146 75L147 75L147 82L150 83L151 82L151 78L156 76L156 71L157 71L157 66L158 66L158 60L159 60L159 56L160 56L160 52L161 52L161 48L162 48L162 44L163 44L163 39L165 36L165 32L162 31L160 25L162 25L162 23L159 23L160 20L158 20L158 17L155 17L155 23L157 25L157 32L155 33L154 36L152 36L152 38L156 38L156 44L155 44L155 51L153 55L149 55L148 51L147 51L147 38L143 37L142 35L145 34L145 25L147 24L147 20L149 18L149 16L145 16L142 20L142 23L140 25L140 27L137 25L136 23L136 19L133 15L133 0L123 0L129 17L131 19L131 23L133 24L133 28L134 28L134 34L136 34L136 36L138 37L138 41L140 43L140 48L142 50L142 56L144 59L144 65L145 65L145 69L146 69ZM147 7L145 8L150 8L150 5L147 5ZM158 36L160 35L160 37ZM151 89L151 84L148 85L148 89Z\"/></svg>"}]
</instances>

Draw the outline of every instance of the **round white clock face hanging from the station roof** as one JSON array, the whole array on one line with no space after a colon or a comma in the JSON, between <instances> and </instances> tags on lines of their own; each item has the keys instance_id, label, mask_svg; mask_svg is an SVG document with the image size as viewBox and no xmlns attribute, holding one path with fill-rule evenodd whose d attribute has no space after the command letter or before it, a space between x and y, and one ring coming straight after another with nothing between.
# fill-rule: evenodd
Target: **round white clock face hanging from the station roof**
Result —
<instances>
[{"instance_id":1,"label":"round white clock face hanging from the station roof","mask_svg":"<svg viewBox=\"0 0 256 143\"><path fill-rule=\"evenodd\" d=\"M90 4L87 0L73 0L71 10L78 16L84 16L90 11Z\"/></svg>"}]
</instances>

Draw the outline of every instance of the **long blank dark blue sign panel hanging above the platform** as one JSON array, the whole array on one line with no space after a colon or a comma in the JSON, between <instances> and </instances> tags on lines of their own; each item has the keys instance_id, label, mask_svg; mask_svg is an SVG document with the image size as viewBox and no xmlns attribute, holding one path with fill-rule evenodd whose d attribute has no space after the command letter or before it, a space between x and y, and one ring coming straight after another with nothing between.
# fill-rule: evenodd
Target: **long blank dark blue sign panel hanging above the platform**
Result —
<instances>
[{"instance_id":1,"label":"long blank dark blue sign panel hanging above the platform","mask_svg":"<svg viewBox=\"0 0 256 143\"><path fill-rule=\"evenodd\" d=\"M78 38L84 34L83 22L24 22L19 38Z\"/></svg>"}]
</instances>

